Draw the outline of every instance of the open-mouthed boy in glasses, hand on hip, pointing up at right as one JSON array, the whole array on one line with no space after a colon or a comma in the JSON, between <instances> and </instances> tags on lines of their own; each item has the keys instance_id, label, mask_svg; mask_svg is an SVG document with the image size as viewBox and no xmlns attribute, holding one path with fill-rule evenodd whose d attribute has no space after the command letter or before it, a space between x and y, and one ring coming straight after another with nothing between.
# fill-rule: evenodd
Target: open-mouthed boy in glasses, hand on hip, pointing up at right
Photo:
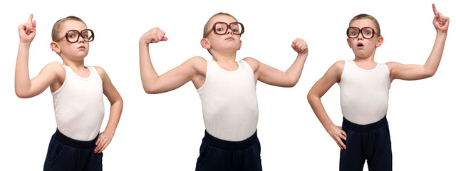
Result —
<instances>
[{"instance_id":1,"label":"open-mouthed boy in glasses, hand on hip, pointing up at right","mask_svg":"<svg viewBox=\"0 0 456 171\"><path fill-rule=\"evenodd\" d=\"M432 4L437 31L434 47L425 65L375 63L376 48L383 43L378 21L360 14L347 29L348 46L355 53L353 61L337 61L318 80L307 96L323 127L341 148L340 170L392 170L390 132L386 113L388 90L395 79L418 80L433 76L442 58L450 19ZM321 97L334 83L341 88L342 127L333 124L323 108Z\"/></svg>"}]
</instances>

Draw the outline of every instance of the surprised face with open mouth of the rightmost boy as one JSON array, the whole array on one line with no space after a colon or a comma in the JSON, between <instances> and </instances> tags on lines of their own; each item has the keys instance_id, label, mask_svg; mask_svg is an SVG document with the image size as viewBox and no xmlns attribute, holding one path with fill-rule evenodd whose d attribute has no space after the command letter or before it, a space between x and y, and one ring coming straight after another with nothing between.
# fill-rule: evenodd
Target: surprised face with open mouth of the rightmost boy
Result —
<instances>
[{"instance_id":1,"label":"surprised face with open mouth of the rightmost boy","mask_svg":"<svg viewBox=\"0 0 456 171\"><path fill-rule=\"evenodd\" d=\"M374 21L371 19L358 19L351 22L350 27L365 28L370 27L376 31L378 28L375 27ZM366 36L366 35L365 35ZM378 36L377 33L372 38L364 38L363 33L358 33L355 38L347 38L348 46L353 50L355 56L361 58L368 58L375 54L375 49L380 47L383 43L383 37Z\"/></svg>"}]
</instances>

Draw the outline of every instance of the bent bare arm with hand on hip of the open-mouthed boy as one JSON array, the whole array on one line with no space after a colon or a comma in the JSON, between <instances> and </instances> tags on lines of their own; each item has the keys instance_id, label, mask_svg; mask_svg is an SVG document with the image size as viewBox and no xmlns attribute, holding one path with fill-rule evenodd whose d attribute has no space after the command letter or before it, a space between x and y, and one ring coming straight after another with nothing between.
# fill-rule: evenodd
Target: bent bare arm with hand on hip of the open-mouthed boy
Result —
<instances>
[{"instance_id":1,"label":"bent bare arm with hand on hip of the open-mouthed boy","mask_svg":"<svg viewBox=\"0 0 456 171\"><path fill-rule=\"evenodd\" d=\"M307 100L314 110L314 113L318 120L325 128L325 130L331 135L337 145L341 149L346 149L346 145L343 144L342 140L346 140L346 133L341 129L340 126L333 124L331 119L328 117L326 110L323 108L323 103L321 103L321 97L331 88L335 83L341 81L341 74L343 71L343 61L338 61L331 66L325 75L318 80L315 85L309 90L307 94Z\"/></svg>"}]
</instances>

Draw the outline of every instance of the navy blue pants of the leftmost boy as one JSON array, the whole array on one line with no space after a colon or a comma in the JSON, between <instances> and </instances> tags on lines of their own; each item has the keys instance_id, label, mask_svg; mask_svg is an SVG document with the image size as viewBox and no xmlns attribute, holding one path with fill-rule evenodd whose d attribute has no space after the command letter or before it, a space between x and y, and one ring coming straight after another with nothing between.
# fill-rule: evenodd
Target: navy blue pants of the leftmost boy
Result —
<instances>
[{"instance_id":1,"label":"navy blue pants of the leftmost boy","mask_svg":"<svg viewBox=\"0 0 456 171\"><path fill-rule=\"evenodd\" d=\"M101 165L103 153L93 152L97 138L98 136L90 141L79 141L68 138L56 130L49 142L44 170L103 170Z\"/></svg>"}]
</instances>

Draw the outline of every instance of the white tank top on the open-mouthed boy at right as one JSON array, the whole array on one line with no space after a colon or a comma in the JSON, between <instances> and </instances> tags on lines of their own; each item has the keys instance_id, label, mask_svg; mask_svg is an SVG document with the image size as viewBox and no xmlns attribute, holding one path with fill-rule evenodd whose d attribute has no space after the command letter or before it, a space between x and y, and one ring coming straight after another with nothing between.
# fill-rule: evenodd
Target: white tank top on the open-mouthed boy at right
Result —
<instances>
[{"instance_id":1,"label":"white tank top on the open-mouthed boy at right","mask_svg":"<svg viewBox=\"0 0 456 171\"><path fill-rule=\"evenodd\" d=\"M364 70L353 61L345 61L339 83L343 117L359 125L382 119L388 110L390 85L390 71L385 63Z\"/></svg>"}]
</instances>

